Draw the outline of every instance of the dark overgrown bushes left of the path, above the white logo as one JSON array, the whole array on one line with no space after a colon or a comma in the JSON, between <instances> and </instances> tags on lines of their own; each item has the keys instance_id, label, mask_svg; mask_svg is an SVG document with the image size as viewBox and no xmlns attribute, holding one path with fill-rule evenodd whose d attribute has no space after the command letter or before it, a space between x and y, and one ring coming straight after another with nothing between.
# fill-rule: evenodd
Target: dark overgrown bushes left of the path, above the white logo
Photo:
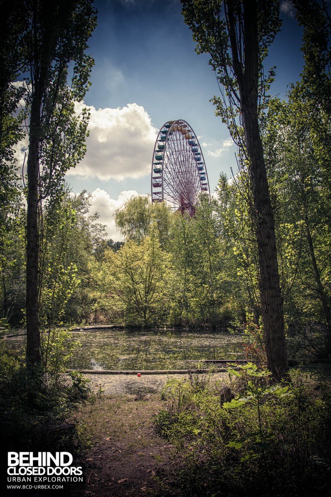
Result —
<instances>
[{"instance_id":1,"label":"dark overgrown bushes left of the path, above the white logo","mask_svg":"<svg viewBox=\"0 0 331 497\"><path fill-rule=\"evenodd\" d=\"M81 375L63 374L68 340L66 333L62 336L60 331L56 332L46 347L48 361L43 360L34 368L26 367L22 352L0 343L0 423L4 454L29 450L75 453L79 447L75 426L68 418L77 404L93 396ZM45 347L43 349L45 351Z\"/></svg>"}]
</instances>

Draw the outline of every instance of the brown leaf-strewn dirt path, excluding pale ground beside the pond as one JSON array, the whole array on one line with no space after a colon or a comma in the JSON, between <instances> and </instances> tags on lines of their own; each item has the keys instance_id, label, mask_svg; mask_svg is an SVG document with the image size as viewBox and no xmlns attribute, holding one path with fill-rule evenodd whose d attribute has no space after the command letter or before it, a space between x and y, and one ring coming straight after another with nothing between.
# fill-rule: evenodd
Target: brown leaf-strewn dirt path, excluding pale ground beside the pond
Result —
<instances>
[{"instance_id":1,"label":"brown leaf-strewn dirt path, excluding pale ground beside the pond","mask_svg":"<svg viewBox=\"0 0 331 497\"><path fill-rule=\"evenodd\" d=\"M174 447L154 433L159 395L104 397L77 413L76 423L97 443L84 462L86 484L74 495L143 497L153 478L171 471Z\"/></svg>"}]
</instances>

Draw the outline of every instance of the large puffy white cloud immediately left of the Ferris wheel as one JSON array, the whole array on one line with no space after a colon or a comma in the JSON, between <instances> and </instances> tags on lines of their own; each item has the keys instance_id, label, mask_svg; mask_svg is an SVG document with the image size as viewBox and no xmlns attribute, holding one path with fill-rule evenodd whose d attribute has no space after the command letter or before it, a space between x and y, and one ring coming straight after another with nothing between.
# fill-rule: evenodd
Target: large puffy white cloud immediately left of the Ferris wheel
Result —
<instances>
[{"instance_id":1,"label":"large puffy white cloud immediately left of the Ferris wheel","mask_svg":"<svg viewBox=\"0 0 331 497\"><path fill-rule=\"evenodd\" d=\"M76 103L77 113L82 107ZM68 176L120 181L148 174L157 131L146 110L128 103L123 108L91 106L90 113L86 155Z\"/></svg>"}]
</instances>

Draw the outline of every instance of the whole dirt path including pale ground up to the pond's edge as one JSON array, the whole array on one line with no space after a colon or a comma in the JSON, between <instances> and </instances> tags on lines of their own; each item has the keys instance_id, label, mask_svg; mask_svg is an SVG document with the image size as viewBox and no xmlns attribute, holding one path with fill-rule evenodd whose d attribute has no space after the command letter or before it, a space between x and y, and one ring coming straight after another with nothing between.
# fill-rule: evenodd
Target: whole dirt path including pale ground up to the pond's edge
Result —
<instances>
[{"instance_id":1,"label":"whole dirt path including pale ground up to the pond's edge","mask_svg":"<svg viewBox=\"0 0 331 497\"><path fill-rule=\"evenodd\" d=\"M153 416L164 407L160 391L168 378L188 375L84 375L103 394L83 406L74 422L92 442L82 461L86 484L73 497L143 497L162 473L172 474L175 448L154 431ZM207 375L204 375L207 378ZM213 381L224 379L213 375ZM200 379L202 376L200 376Z\"/></svg>"}]
</instances>

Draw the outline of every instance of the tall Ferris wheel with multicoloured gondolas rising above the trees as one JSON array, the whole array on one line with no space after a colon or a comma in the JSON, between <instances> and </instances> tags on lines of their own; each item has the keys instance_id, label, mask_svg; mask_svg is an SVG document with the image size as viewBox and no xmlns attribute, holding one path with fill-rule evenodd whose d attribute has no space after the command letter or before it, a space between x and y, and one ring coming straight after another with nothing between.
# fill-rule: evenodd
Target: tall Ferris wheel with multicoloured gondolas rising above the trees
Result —
<instances>
[{"instance_id":1,"label":"tall Ferris wheel with multicoloured gondolas rising above the trees","mask_svg":"<svg viewBox=\"0 0 331 497\"><path fill-rule=\"evenodd\" d=\"M201 192L210 198L206 164L197 136L183 119L160 129L151 165L152 202L167 202L174 210L194 216Z\"/></svg>"}]
</instances>

